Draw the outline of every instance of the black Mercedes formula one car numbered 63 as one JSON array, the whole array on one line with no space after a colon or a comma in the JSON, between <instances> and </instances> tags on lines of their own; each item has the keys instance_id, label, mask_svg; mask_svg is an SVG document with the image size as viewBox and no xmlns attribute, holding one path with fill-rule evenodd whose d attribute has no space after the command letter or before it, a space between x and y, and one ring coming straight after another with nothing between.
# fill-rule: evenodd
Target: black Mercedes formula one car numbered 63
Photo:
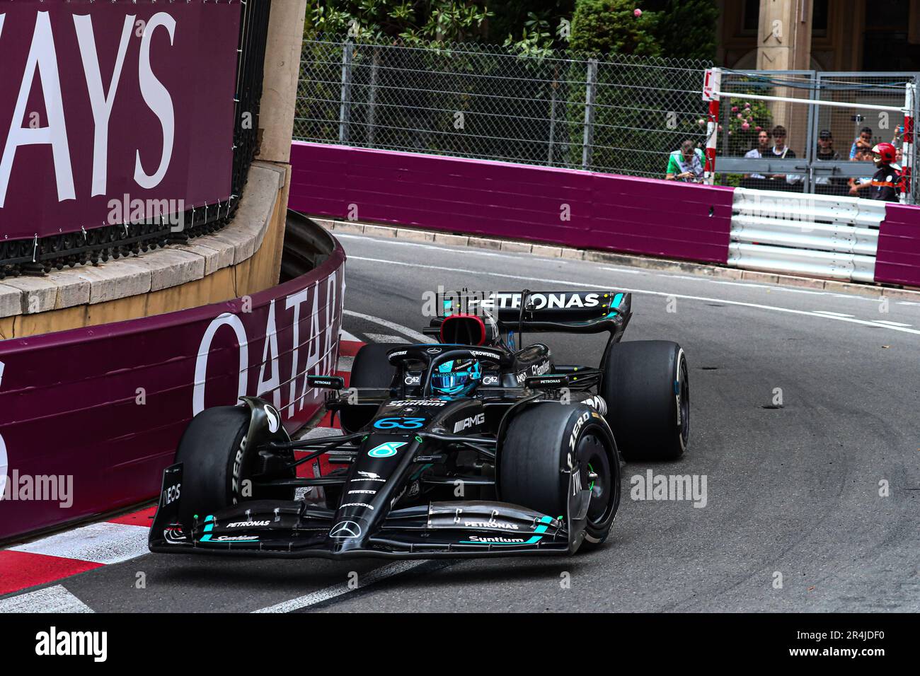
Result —
<instances>
[{"instance_id":1,"label":"black Mercedes formula one car numbered 63","mask_svg":"<svg viewBox=\"0 0 920 676\"><path fill-rule=\"evenodd\" d=\"M620 342L622 292L445 302L430 344L365 345L328 388L343 434L292 441L268 402L190 422L150 534L163 553L432 558L573 554L606 539L621 456L673 459L689 432L684 351ZM523 332L609 332L600 366L562 365ZM300 457L295 455L298 452ZM339 469L298 477L325 455ZM323 501L295 499L322 489Z\"/></svg>"}]
</instances>

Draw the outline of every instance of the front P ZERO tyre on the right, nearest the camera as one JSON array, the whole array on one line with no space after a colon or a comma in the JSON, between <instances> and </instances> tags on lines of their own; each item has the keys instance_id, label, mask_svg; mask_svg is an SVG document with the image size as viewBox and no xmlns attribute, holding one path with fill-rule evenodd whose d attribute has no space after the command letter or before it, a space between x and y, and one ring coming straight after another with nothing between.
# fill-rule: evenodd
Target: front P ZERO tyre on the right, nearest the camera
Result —
<instances>
[{"instance_id":1,"label":"front P ZERO tyre on the right, nearest the camera","mask_svg":"<svg viewBox=\"0 0 920 676\"><path fill-rule=\"evenodd\" d=\"M586 547L604 542L620 503L619 455L604 419L596 415L583 404L537 404L514 415L500 447L500 499L565 519L569 473L564 470L574 434L581 486L592 492Z\"/></svg>"}]
</instances>

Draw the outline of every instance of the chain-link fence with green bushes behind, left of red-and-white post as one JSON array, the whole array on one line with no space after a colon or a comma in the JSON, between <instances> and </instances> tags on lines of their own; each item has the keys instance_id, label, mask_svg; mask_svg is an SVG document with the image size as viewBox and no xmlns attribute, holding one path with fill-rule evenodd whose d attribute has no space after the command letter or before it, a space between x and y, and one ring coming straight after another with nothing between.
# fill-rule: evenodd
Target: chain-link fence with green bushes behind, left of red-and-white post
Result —
<instances>
[{"instance_id":1,"label":"chain-link fence with green bushes behind, left of red-and-white post","mask_svg":"<svg viewBox=\"0 0 920 676\"><path fill-rule=\"evenodd\" d=\"M709 65L306 40L294 138L663 178Z\"/></svg>"}]
</instances>

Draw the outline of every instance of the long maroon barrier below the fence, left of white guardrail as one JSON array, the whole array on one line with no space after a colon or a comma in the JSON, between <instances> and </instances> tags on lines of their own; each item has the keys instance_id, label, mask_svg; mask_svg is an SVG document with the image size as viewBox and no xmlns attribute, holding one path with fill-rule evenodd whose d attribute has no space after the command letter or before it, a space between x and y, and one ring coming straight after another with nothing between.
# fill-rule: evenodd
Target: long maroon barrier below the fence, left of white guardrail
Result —
<instances>
[{"instance_id":1,"label":"long maroon barrier below the fence, left of white guardrail","mask_svg":"<svg viewBox=\"0 0 920 676\"><path fill-rule=\"evenodd\" d=\"M339 219L726 263L732 189L293 143L292 209ZM662 173L663 173L662 166Z\"/></svg>"}]
</instances>

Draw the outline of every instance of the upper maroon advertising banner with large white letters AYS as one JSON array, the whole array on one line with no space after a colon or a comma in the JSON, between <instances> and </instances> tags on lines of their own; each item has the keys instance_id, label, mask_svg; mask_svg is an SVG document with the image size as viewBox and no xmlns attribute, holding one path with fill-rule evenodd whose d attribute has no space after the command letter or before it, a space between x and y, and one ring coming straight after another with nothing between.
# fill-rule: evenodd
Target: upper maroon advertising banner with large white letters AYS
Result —
<instances>
[{"instance_id":1,"label":"upper maroon advertising banner with large white letters AYS","mask_svg":"<svg viewBox=\"0 0 920 676\"><path fill-rule=\"evenodd\" d=\"M0 237L226 201L241 7L0 0Z\"/></svg>"}]
</instances>

